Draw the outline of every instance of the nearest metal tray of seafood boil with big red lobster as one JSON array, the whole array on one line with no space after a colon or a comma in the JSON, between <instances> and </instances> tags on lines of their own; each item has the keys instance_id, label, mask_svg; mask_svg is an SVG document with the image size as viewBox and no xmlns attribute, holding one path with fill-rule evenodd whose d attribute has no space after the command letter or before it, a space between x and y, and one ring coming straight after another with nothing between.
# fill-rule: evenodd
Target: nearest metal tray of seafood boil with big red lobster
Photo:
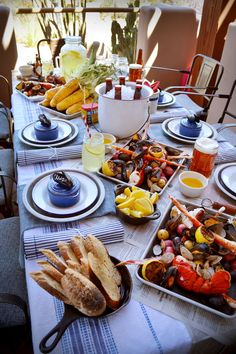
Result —
<instances>
[{"instance_id":1,"label":"nearest metal tray of seafood boil with big red lobster","mask_svg":"<svg viewBox=\"0 0 236 354\"><path fill-rule=\"evenodd\" d=\"M236 316L236 220L177 200L137 264L137 278L224 318Z\"/></svg>"}]
</instances>

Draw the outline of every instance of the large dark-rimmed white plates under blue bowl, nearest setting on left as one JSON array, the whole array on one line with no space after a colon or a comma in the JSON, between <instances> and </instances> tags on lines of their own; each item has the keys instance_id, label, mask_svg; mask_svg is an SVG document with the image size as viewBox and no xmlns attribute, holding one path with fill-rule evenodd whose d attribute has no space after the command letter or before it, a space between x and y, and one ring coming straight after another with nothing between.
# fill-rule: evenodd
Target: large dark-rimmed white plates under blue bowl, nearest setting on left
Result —
<instances>
[{"instance_id":1,"label":"large dark-rimmed white plates under blue bowl, nearest setting on left","mask_svg":"<svg viewBox=\"0 0 236 354\"><path fill-rule=\"evenodd\" d=\"M32 215L46 221L68 222L82 219L98 209L105 197L103 183L95 175L76 169L63 169L63 171L80 181L79 201L67 208L60 208L52 204L47 184L50 176L57 171L61 171L61 169L44 172L25 187L23 203Z\"/></svg>"}]
</instances>

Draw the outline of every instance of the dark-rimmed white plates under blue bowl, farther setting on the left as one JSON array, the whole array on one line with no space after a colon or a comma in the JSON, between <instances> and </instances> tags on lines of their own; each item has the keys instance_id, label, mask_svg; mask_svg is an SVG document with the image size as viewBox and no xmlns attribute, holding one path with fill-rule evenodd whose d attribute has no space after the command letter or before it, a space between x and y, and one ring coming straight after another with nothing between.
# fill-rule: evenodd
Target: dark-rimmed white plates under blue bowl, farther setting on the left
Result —
<instances>
[{"instance_id":1,"label":"dark-rimmed white plates under blue bowl, farther setting on the left","mask_svg":"<svg viewBox=\"0 0 236 354\"><path fill-rule=\"evenodd\" d=\"M24 143L26 145L29 145L29 146L34 146L34 147L37 147L37 148L49 147L49 146L60 146L60 145L67 144L68 142L74 140L76 138L76 136L78 135L78 133L79 133L79 129L78 129L76 124L71 123L71 122L66 122L71 128L71 133L66 138L64 138L62 140L59 140L59 141L56 140L55 142L48 142L48 143L42 142L42 141L39 141L39 140L37 142L36 141L32 142L32 141L30 141L30 140L25 138L25 136L23 135L23 132L25 131L25 129L28 132L32 131L34 123L35 122L30 123L25 128L19 130L18 137L19 137L19 139L20 139L20 141L22 143ZM30 126L30 128L28 130L29 126Z\"/></svg>"}]
</instances>

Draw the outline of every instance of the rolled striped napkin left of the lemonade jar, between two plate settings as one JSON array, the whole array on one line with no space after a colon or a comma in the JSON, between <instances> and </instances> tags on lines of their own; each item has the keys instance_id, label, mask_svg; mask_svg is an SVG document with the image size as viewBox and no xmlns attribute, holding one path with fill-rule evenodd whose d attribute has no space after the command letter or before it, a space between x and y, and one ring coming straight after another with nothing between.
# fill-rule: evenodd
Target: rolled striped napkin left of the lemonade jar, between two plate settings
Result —
<instances>
[{"instance_id":1,"label":"rolled striped napkin left of the lemonade jar, between two plate settings","mask_svg":"<svg viewBox=\"0 0 236 354\"><path fill-rule=\"evenodd\" d=\"M32 149L17 151L17 163L19 166L32 165L39 162L50 162L66 159L81 158L82 145L65 147L49 147L46 149Z\"/></svg>"}]
</instances>

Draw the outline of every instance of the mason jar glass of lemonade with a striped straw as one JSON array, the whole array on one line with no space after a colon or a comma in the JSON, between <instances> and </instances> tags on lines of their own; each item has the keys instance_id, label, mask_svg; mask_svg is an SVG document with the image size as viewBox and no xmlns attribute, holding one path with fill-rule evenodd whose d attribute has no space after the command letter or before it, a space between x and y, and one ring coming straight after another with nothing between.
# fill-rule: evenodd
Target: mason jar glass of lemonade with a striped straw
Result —
<instances>
[{"instance_id":1,"label":"mason jar glass of lemonade with a striped straw","mask_svg":"<svg viewBox=\"0 0 236 354\"><path fill-rule=\"evenodd\" d=\"M82 148L82 164L85 170L96 172L105 158L105 145L102 133L88 133L84 136Z\"/></svg>"}]
</instances>

